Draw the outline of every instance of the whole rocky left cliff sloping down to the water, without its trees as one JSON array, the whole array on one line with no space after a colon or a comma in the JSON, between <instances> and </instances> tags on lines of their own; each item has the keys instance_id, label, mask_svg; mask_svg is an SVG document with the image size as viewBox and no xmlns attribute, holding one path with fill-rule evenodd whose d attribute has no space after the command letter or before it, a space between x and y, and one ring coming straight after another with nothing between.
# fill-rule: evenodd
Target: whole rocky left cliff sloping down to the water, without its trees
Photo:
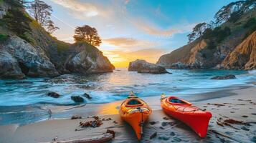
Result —
<instances>
[{"instance_id":1,"label":"whole rocky left cliff sloping down to the water, without its trees","mask_svg":"<svg viewBox=\"0 0 256 143\"><path fill-rule=\"evenodd\" d=\"M0 4L0 21L10 9ZM0 24L0 78L49 77L68 73L113 71L114 66L95 46L86 43L68 44L57 40L32 19L32 32L16 36L15 31ZM1 37L0 37L1 38Z\"/></svg>"}]
</instances>

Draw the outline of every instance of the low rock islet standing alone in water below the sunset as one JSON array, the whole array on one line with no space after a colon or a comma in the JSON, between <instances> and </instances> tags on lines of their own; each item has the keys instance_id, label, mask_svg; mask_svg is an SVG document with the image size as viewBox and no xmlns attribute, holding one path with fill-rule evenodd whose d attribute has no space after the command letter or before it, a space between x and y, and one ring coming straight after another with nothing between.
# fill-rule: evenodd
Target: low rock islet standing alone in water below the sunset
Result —
<instances>
[{"instance_id":1,"label":"low rock islet standing alone in water below the sunset","mask_svg":"<svg viewBox=\"0 0 256 143\"><path fill-rule=\"evenodd\" d=\"M168 73L163 66L157 64L148 63L143 59L137 59L131 61L128 67L128 71L138 71L138 73L151 73L151 74L164 74Z\"/></svg>"}]
</instances>

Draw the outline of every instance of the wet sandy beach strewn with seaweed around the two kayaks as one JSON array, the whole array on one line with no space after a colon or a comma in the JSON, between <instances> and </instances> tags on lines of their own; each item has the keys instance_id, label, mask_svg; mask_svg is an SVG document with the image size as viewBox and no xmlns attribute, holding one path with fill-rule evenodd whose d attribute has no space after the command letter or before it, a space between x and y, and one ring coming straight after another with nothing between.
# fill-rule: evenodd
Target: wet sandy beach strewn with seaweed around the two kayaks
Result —
<instances>
[{"instance_id":1,"label":"wet sandy beach strewn with seaweed around the two kayaks","mask_svg":"<svg viewBox=\"0 0 256 143\"><path fill-rule=\"evenodd\" d=\"M153 108L153 114L145 124L141 142L256 142L255 93L256 87L249 87L204 94L206 97L211 96L211 94L216 94L216 97L218 97L217 94L227 94L227 97L201 99L198 102L189 100L201 109L212 112L213 116L209 122L208 134L204 139L199 138L183 123L164 114L161 111L158 97L148 97L145 100ZM51 119L24 126L9 124L0 127L0 142L52 142L53 139L63 141L91 138L100 136L107 129L115 131L115 138L112 142L138 142L133 129L123 122L118 115L120 102L76 108L75 111L80 112L87 108L102 109L95 114L105 120L100 127L79 127L80 122L90 121L93 117ZM242 124L223 124L224 119L234 119L241 121ZM154 132L157 132L156 137L150 139Z\"/></svg>"}]
</instances>

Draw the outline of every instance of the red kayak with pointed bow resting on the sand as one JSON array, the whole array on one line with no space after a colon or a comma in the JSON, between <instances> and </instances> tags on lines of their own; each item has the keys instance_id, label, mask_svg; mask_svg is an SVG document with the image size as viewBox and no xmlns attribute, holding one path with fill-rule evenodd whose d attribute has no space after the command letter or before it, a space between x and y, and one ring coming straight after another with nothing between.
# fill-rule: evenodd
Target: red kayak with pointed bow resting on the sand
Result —
<instances>
[{"instance_id":1,"label":"red kayak with pointed bow resting on the sand","mask_svg":"<svg viewBox=\"0 0 256 143\"><path fill-rule=\"evenodd\" d=\"M194 107L183 99L165 97L164 95L161 96L161 107L163 112L191 127L199 137L207 135L209 120L212 117L211 112L205 112L198 107Z\"/></svg>"}]
</instances>

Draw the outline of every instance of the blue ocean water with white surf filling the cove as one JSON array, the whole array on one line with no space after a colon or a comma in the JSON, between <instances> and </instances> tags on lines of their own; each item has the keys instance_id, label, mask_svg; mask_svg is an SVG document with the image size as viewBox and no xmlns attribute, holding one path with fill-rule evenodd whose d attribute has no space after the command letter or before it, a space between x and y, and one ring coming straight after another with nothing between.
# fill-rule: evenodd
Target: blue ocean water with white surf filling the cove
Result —
<instances>
[{"instance_id":1,"label":"blue ocean water with white surf filling the cove","mask_svg":"<svg viewBox=\"0 0 256 143\"><path fill-rule=\"evenodd\" d=\"M256 71L217 69L168 69L172 74L139 74L117 69L113 73L60 77L0 80L0 124L42 120L49 116L47 106L70 105L72 95L90 94L84 104L100 104L125 99L133 91L138 97L171 94L194 96L221 89L247 86L256 79ZM234 74L237 79L212 80L217 75ZM61 97L48 97L57 92Z\"/></svg>"}]
</instances>

